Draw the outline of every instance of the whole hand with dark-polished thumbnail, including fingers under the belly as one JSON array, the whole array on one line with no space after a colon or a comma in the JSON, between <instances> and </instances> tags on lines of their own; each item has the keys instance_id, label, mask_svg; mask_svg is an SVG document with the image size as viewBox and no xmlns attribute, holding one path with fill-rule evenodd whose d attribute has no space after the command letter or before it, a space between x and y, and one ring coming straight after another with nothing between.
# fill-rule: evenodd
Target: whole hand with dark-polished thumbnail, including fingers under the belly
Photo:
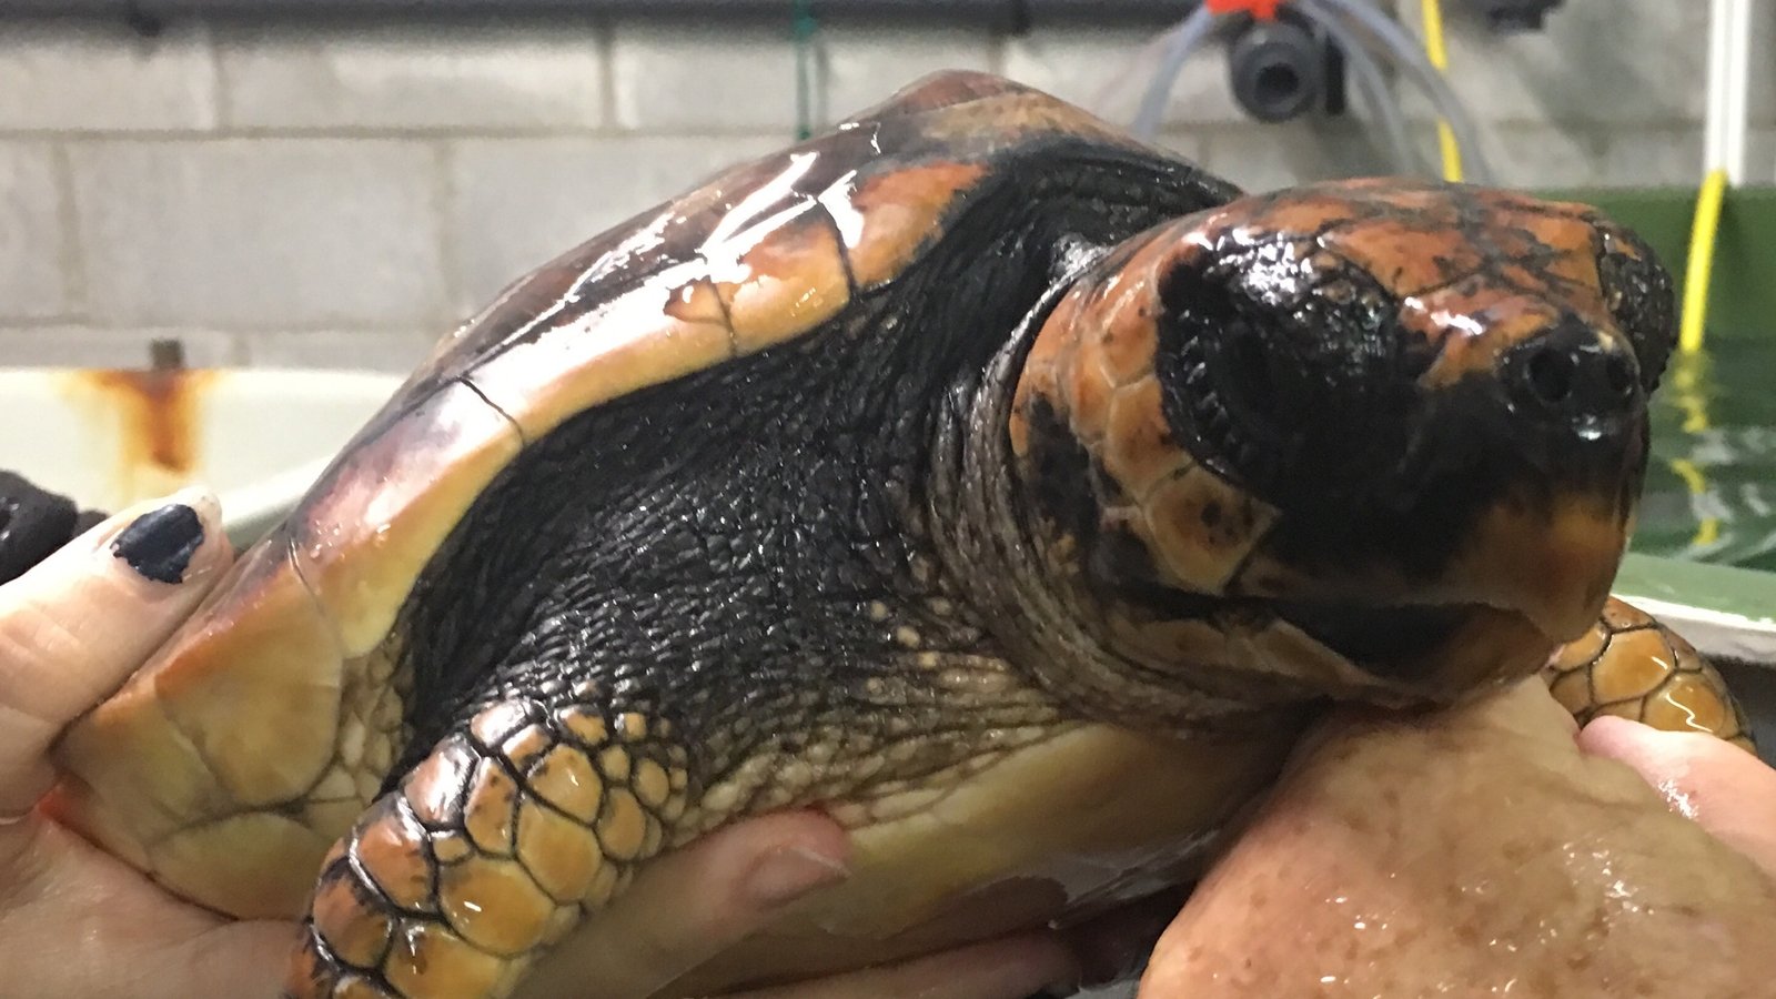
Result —
<instances>
[{"instance_id":1,"label":"whole hand with dark-polished thumbnail, including fingers under the belly","mask_svg":"<svg viewBox=\"0 0 1776 999\"><path fill-rule=\"evenodd\" d=\"M66 537L66 535L64 535ZM32 558L36 562L36 556ZM0 967L7 995L277 995L293 921L234 921L165 892L53 818L48 748L197 608L233 562L202 491L131 507L0 585ZM659 860L694 899L623 928L600 999L639 999L845 875L845 832L817 812L765 816ZM1176 908L1174 908L1176 910ZM1154 930L1156 933L1156 930ZM1089 947L1087 947L1089 951ZM1018 999L1082 974L1032 931L753 999Z\"/></svg>"}]
</instances>

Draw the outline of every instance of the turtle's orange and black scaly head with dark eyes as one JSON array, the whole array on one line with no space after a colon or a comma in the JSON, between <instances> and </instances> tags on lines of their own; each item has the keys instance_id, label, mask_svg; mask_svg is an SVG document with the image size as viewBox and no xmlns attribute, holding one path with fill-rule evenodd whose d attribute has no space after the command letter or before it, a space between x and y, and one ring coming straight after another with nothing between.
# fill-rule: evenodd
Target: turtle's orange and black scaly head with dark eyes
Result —
<instances>
[{"instance_id":1,"label":"turtle's orange and black scaly head with dark eyes","mask_svg":"<svg viewBox=\"0 0 1776 999\"><path fill-rule=\"evenodd\" d=\"M1597 619L1671 327L1652 251L1590 208L1247 197L1117 247L1046 318L1011 418L1027 517L1149 670L1456 697Z\"/></svg>"}]
</instances>

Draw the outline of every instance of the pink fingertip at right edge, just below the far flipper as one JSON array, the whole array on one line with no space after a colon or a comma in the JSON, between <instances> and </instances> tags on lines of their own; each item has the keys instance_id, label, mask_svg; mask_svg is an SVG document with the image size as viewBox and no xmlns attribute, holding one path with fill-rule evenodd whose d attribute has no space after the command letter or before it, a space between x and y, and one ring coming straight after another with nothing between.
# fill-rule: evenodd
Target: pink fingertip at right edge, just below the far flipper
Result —
<instances>
[{"instance_id":1,"label":"pink fingertip at right edge, just below the far flipper","mask_svg":"<svg viewBox=\"0 0 1776 999\"><path fill-rule=\"evenodd\" d=\"M1625 763L1678 812L1776 876L1776 770L1703 732L1662 732L1600 716L1579 748Z\"/></svg>"}]
</instances>

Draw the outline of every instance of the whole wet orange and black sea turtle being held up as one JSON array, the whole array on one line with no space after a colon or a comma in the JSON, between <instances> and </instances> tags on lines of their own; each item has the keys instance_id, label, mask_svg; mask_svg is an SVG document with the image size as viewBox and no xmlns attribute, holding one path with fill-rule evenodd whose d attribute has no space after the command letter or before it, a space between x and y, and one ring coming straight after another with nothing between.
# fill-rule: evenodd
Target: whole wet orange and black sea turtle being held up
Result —
<instances>
[{"instance_id":1,"label":"whole wet orange and black sea turtle being held up","mask_svg":"<svg viewBox=\"0 0 1776 999\"><path fill-rule=\"evenodd\" d=\"M927 78L449 336L71 727L59 807L307 912L302 997L508 994L650 859L799 805L856 875L678 992L1076 912L1188 876L1327 702L1586 635L1669 347L1590 208L1241 196Z\"/></svg>"}]
</instances>

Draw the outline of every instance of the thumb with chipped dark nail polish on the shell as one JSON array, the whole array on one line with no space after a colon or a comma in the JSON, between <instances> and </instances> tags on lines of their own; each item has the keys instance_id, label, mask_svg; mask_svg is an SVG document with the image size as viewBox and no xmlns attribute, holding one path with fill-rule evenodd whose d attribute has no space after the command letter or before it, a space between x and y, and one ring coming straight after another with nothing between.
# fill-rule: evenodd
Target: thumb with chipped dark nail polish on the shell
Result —
<instances>
[{"instance_id":1,"label":"thumb with chipped dark nail polish on the shell","mask_svg":"<svg viewBox=\"0 0 1776 999\"><path fill-rule=\"evenodd\" d=\"M201 489L140 503L0 585L0 818L48 789L44 750L135 672L233 558Z\"/></svg>"}]
</instances>

